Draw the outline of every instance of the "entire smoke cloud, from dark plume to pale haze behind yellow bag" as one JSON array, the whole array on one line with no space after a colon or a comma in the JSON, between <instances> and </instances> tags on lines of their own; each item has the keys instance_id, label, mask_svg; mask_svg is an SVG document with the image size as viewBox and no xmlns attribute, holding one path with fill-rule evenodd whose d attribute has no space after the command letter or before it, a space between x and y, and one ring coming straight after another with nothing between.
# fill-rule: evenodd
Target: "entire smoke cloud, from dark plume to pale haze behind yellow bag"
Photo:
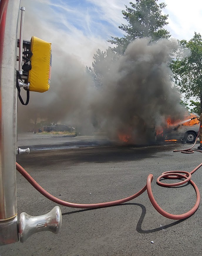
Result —
<instances>
[{"instance_id":1,"label":"entire smoke cloud, from dark plume to pale haze behind yellow bag","mask_svg":"<svg viewBox=\"0 0 202 256\"><path fill-rule=\"evenodd\" d=\"M100 63L102 74L106 65L109 67L97 89L85 65L68 53L65 34L43 24L32 7L26 7L29 15L25 16L24 38L35 35L52 42L51 85L48 92L30 92L28 106L18 104L18 127L40 117L80 127L85 134L95 130L107 132L111 138L129 134L130 140L139 142L147 141L148 129L164 124L167 116L178 119L184 115L169 68L175 41L150 43L144 38L131 42L117 61Z\"/></svg>"}]
</instances>

